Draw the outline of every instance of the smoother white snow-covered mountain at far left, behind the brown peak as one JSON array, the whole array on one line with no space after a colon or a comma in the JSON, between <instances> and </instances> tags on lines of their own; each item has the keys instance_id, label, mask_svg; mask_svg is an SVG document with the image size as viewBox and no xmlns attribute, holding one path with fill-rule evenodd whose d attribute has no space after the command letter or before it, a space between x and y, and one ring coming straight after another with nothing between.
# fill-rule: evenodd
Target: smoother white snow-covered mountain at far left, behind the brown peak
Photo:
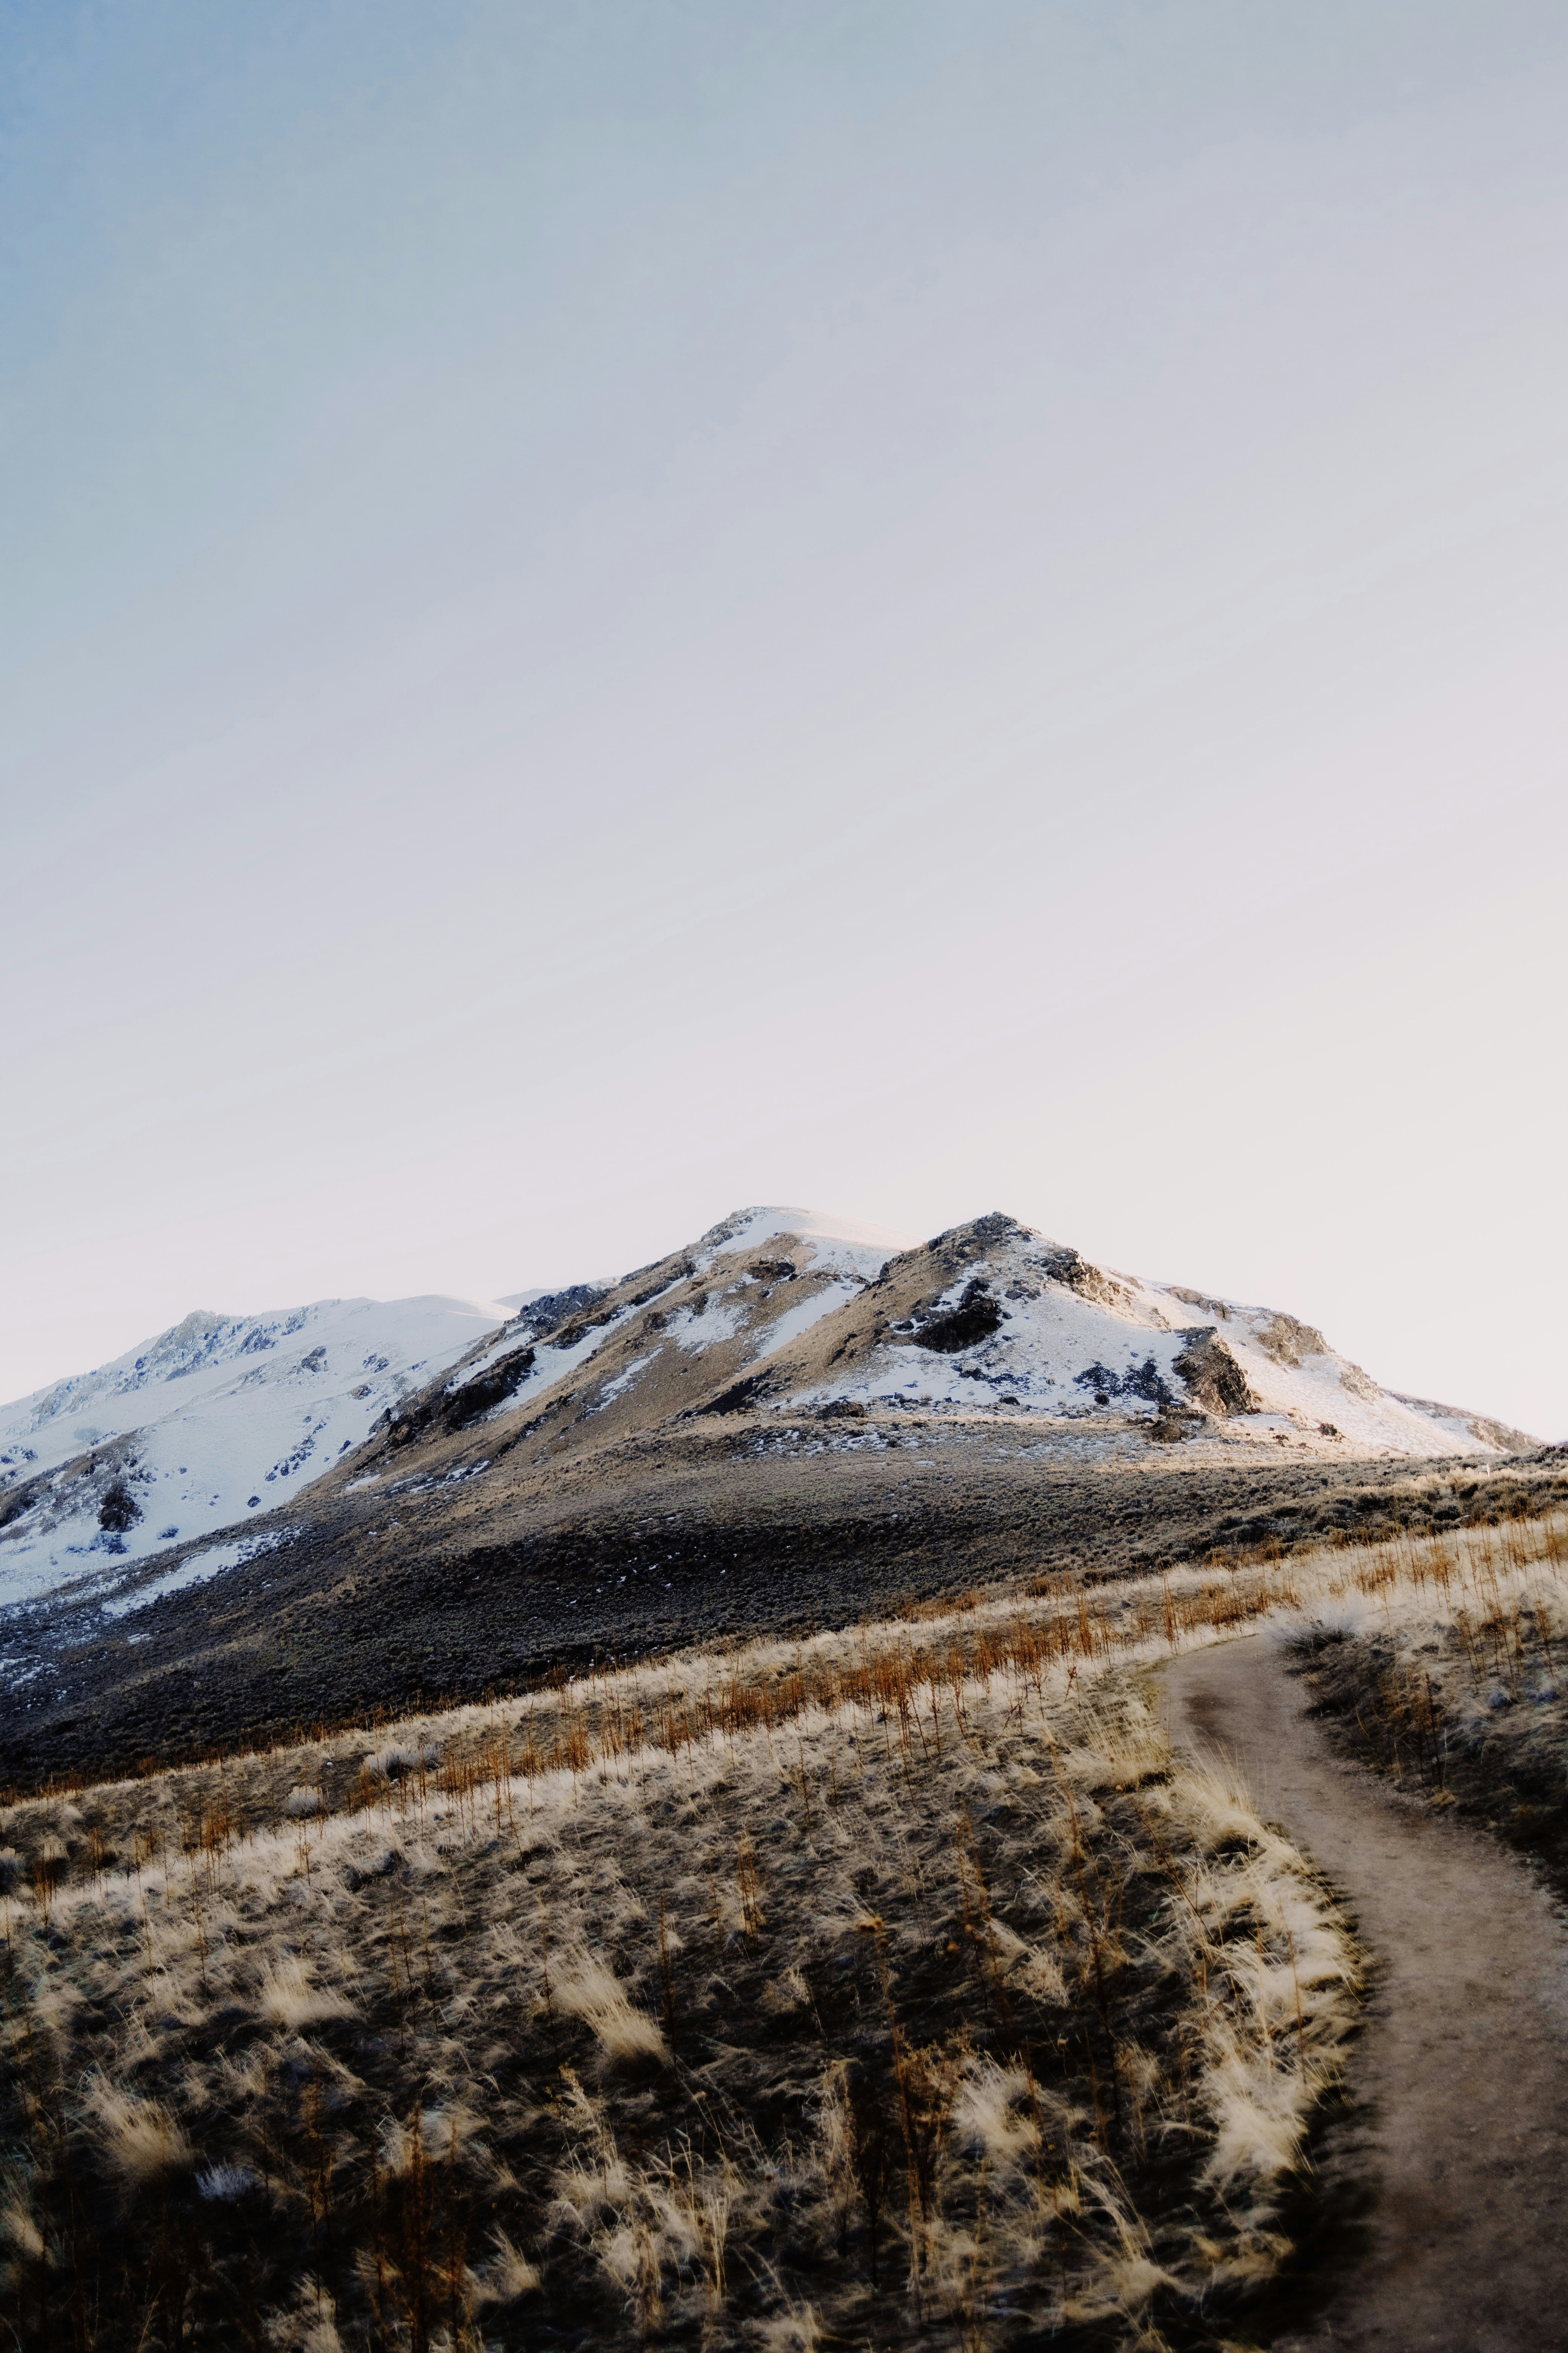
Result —
<instances>
[{"instance_id":1,"label":"smoother white snow-covered mountain at far left, behind the brown peak","mask_svg":"<svg viewBox=\"0 0 1568 2353\"><path fill-rule=\"evenodd\" d=\"M0 1602L270 1511L508 1313L440 1297L197 1311L0 1407Z\"/></svg>"}]
</instances>

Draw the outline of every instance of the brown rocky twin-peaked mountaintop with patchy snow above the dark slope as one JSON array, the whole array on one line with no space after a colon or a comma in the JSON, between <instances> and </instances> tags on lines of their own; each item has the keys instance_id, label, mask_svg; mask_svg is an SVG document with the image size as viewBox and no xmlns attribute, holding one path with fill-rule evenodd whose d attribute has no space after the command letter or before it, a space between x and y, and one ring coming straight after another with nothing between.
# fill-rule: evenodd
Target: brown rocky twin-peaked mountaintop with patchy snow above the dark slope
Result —
<instances>
[{"instance_id":1,"label":"brown rocky twin-peaked mountaintop with patchy snow above the dark slope","mask_svg":"<svg viewBox=\"0 0 1568 2353\"><path fill-rule=\"evenodd\" d=\"M543 1459L691 1414L900 1407L1027 1417L1041 1440L1103 1431L1340 1459L1535 1445L1380 1388L1295 1315L1110 1273L1001 1214L912 1242L806 1209L741 1209L691 1249L571 1299L564 1318L550 1301L543 1320L524 1308L447 1381L451 1402L487 1384L484 1417L505 1424L508 1449ZM425 1407L393 1421L393 1447L433 1419Z\"/></svg>"}]
</instances>

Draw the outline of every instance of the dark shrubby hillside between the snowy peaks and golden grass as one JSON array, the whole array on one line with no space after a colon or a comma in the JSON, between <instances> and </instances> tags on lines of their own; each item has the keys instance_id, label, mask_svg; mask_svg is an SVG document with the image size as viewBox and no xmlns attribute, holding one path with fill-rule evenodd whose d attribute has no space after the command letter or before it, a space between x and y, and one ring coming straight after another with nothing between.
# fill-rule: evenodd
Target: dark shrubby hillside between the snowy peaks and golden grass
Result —
<instances>
[{"instance_id":1,"label":"dark shrubby hillside between the snowy peaks and golden grass","mask_svg":"<svg viewBox=\"0 0 1568 2353\"><path fill-rule=\"evenodd\" d=\"M317 1482L315 1520L247 1569L106 1619L14 1612L0 1788L176 1762L517 1689L555 1666L804 1635L907 1595L1135 1577L1258 1546L1434 1532L1568 1499L1561 1449L1495 1466L1260 1464L1220 1445L1074 1438L997 1417L733 1417L550 1471ZM1131 1452L1128 1452L1131 1449ZM508 1459L510 1461L510 1459ZM505 1478L503 1478L505 1473ZM306 1499L301 1499L303 1504Z\"/></svg>"}]
</instances>

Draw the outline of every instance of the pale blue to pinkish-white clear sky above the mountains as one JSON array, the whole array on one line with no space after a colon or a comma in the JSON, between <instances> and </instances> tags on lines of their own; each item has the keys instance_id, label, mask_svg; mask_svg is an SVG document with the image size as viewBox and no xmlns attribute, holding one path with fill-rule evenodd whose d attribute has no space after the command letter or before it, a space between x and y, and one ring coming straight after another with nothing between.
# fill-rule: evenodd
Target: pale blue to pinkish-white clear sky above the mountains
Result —
<instances>
[{"instance_id":1,"label":"pale blue to pinkish-white clear sky above the mountains","mask_svg":"<svg viewBox=\"0 0 1568 2353\"><path fill-rule=\"evenodd\" d=\"M12 0L0 1395L1004 1207L1568 1435L1561 0Z\"/></svg>"}]
</instances>

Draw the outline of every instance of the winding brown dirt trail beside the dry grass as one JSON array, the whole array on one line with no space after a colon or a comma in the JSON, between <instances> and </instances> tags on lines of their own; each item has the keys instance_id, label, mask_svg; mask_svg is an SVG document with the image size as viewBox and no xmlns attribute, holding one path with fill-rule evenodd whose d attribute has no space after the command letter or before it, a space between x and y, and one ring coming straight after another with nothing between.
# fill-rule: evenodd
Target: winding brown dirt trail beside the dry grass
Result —
<instances>
[{"instance_id":1,"label":"winding brown dirt trail beside the dry grass","mask_svg":"<svg viewBox=\"0 0 1568 2353\"><path fill-rule=\"evenodd\" d=\"M1326 2134L1328 2301L1279 2353L1568 2348L1568 1934L1500 1847L1340 1765L1267 1638L1166 1671L1171 1734L1220 1751L1349 1901L1378 1962Z\"/></svg>"}]
</instances>

